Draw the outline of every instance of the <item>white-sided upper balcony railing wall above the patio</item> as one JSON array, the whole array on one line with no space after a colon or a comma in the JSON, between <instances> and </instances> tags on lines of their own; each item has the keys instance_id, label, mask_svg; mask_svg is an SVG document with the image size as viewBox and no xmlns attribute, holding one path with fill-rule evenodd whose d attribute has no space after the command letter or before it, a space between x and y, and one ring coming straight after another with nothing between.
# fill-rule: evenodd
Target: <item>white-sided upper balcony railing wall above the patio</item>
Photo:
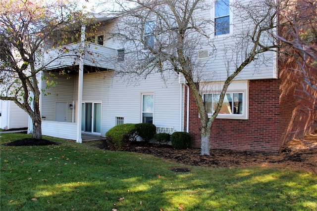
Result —
<instances>
[{"instance_id":1,"label":"white-sided upper balcony railing wall above the patio","mask_svg":"<svg viewBox=\"0 0 317 211\"><path fill-rule=\"evenodd\" d=\"M84 42L84 47L71 43L46 50L43 66L47 70L78 66L81 57L85 66L114 70L116 50L92 42Z\"/></svg>"}]
</instances>

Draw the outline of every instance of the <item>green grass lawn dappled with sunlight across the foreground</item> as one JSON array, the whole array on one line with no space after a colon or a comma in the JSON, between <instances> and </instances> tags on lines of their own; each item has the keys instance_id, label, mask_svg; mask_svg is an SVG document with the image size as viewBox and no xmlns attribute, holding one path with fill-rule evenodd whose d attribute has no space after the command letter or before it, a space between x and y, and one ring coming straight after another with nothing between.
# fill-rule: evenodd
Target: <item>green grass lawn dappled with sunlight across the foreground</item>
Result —
<instances>
[{"instance_id":1,"label":"green grass lawn dappled with sunlight across the foreground","mask_svg":"<svg viewBox=\"0 0 317 211\"><path fill-rule=\"evenodd\" d=\"M29 135L0 135L1 211L317 211L313 173L184 166L51 137L60 145L8 147Z\"/></svg>"}]
</instances>

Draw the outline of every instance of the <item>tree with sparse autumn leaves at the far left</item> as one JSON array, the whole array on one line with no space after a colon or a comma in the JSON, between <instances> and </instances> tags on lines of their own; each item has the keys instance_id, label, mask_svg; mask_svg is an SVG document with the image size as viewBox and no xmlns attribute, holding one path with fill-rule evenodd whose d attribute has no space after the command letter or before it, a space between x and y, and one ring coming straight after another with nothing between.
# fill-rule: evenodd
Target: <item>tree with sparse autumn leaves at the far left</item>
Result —
<instances>
[{"instance_id":1,"label":"tree with sparse autumn leaves at the far left","mask_svg":"<svg viewBox=\"0 0 317 211\"><path fill-rule=\"evenodd\" d=\"M33 121L35 139L42 138L38 73L80 40L82 14L75 1L0 0L0 99L12 100ZM50 42L49 42L50 41ZM45 61L45 47L56 54Z\"/></svg>"}]
</instances>

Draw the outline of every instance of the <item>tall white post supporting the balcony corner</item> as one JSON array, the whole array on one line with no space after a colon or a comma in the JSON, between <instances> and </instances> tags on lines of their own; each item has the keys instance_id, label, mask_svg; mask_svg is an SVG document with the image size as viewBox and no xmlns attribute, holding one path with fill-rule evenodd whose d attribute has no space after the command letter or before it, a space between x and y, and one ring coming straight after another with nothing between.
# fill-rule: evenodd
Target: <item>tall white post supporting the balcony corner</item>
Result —
<instances>
[{"instance_id":1,"label":"tall white post supporting the balcony corner","mask_svg":"<svg viewBox=\"0 0 317 211\"><path fill-rule=\"evenodd\" d=\"M80 46L80 53L83 53L84 45L85 45L85 31L86 31L86 26L83 25L81 27L81 35L80 35L80 40L81 40L81 46ZM81 110L82 110L82 100L83 100L83 80L84 79L84 59L83 55L79 56L79 69L78 69L78 104L77 104L77 143L82 142L81 138Z\"/></svg>"}]
</instances>

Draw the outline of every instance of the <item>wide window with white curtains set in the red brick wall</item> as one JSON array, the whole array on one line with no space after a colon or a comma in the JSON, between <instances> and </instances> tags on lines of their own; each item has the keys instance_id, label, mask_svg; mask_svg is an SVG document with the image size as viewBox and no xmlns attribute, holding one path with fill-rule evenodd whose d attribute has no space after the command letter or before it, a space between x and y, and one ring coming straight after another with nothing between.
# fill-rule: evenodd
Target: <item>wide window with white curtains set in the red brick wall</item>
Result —
<instances>
[{"instance_id":1,"label":"wide window with white curtains set in the red brick wall","mask_svg":"<svg viewBox=\"0 0 317 211\"><path fill-rule=\"evenodd\" d=\"M208 115L212 115L219 102L220 94L204 94L204 103ZM243 116L245 106L243 92L226 93L218 116Z\"/></svg>"}]
</instances>

